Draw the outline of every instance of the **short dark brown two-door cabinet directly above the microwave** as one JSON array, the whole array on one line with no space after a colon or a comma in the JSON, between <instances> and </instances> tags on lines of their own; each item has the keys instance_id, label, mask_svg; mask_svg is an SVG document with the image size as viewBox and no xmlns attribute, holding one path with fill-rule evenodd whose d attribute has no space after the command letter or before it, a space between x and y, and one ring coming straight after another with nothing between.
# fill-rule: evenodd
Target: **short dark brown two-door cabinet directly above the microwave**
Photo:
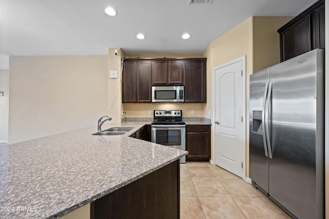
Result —
<instances>
[{"instance_id":1,"label":"short dark brown two-door cabinet directly above the microwave","mask_svg":"<svg viewBox=\"0 0 329 219\"><path fill-rule=\"evenodd\" d=\"M152 61L152 84L183 84L181 61Z\"/></svg>"}]
</instances>

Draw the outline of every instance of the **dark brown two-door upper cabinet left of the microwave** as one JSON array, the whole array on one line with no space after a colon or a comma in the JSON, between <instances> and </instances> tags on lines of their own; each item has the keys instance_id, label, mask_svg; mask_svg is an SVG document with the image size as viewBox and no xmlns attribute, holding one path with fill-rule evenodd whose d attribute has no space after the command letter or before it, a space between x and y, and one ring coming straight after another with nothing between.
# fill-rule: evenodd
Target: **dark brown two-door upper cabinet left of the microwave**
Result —
<instances>
[{"instance_id":1,"label":"dark brown two-door upper cabinet left of the microwave","mask_svg":"<svg viewBox=\"0 0 329 219\"><path fill-rule=\"evenodd\" d=\"M151 103L150 61L124 61L122 103Z\"/></svg>"}]
</instances>

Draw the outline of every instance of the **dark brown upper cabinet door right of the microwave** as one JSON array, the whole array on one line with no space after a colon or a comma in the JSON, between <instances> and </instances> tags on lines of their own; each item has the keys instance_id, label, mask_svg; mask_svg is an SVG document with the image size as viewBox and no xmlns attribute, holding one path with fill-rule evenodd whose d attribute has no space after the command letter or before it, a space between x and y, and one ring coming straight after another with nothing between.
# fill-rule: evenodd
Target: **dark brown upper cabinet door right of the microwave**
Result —
<instances>
[{"instance_id":1,"label":"dark brown upper cabinet door right of the microwave","mask_svg":"<svg viewBox=\"0 0 329 219\"><path fill-rule=\"evenodd\" d=\"M184 92L186 103L206 103L206 62L184 62Z\"/></svg>"}]
</instances>

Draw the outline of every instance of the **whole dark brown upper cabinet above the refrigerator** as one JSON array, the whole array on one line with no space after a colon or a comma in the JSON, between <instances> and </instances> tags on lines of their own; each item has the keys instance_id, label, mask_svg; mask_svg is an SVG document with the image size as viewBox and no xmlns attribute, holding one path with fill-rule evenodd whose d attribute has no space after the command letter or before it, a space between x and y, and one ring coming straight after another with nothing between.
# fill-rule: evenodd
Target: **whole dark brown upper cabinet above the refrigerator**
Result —
<instances>
[{"instance_id":1,"label":"whole dark brown upper cabinet above the refrigerator","mask_svg":"<svg viewBox=\"0 0 329 219\"><path fill-rule=\"evenodd\" d=\"M307 8L278 32L281 62L316 48L324 48L324 0Z\"/></svg>"}]
</instances>

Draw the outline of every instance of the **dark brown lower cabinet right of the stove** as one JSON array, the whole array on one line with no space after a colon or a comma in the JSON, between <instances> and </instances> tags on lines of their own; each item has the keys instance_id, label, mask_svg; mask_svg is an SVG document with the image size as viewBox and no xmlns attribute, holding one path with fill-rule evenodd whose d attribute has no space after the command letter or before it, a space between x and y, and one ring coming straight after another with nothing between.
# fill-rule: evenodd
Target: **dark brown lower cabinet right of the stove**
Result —
<instances>
[{"instance_id":1,"label":"dark brown lower cabinet right of the stove","mask_svg":"<svg viewBox=\"0 0 329 219\"><path fill-rule=\"evenodd\" d=\"M210 125L186 126L186 161L209 161Z\"/></svg>"}]
</instances>

